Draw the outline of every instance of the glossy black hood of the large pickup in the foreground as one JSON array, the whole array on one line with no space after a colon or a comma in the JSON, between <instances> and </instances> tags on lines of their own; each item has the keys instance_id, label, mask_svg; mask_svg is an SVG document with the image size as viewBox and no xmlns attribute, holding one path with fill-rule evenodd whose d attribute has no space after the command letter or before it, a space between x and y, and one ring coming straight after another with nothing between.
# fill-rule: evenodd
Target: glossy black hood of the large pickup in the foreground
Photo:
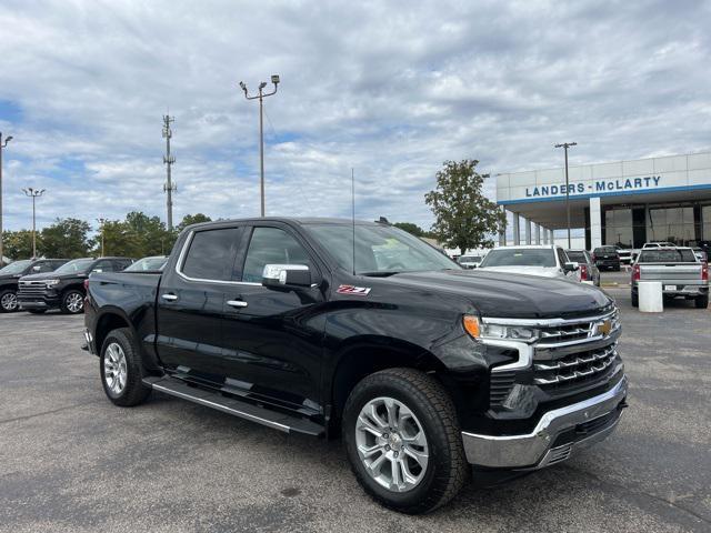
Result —
<instances>
[{"instance_id":1,"label":"glossy black hood of the large pickup in the foreground","mask_svg":"<svg viewBox=\"0 0 711 533\"><path fill-rule=\"evenodd\" d=\"M562 278L508 272L444 270L410 272L388 278L393 284L454 293L482 316L547 319L594 314L612 303L601 290Z\"/></svg>"}]
</instances>

